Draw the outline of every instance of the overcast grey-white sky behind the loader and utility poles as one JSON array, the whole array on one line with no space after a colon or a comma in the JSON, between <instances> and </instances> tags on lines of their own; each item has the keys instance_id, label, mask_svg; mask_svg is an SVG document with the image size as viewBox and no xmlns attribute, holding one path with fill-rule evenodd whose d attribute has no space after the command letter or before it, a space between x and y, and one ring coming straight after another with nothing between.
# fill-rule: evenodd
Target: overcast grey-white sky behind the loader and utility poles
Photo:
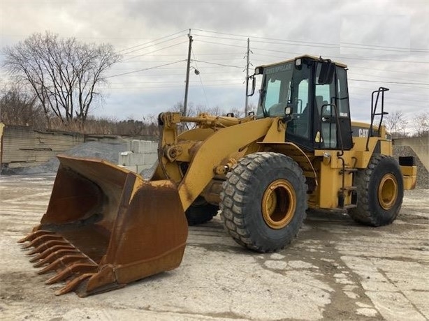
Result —
<instances>
[{"instance_id":1,"label":"overcast grey-white sky behind the loader and utility poles","mask_svg":"<svg viewBox=\"0 0 429 321\"><path fill-rule=\"evenodd\" d=\"M411 120L428 111L428 0L0 3L1 48L51 31L111 43L123 54L108 71L115 77L103 89L106 100L97 116L142 119L182 102L189 29L191 66L200 71L190 75L188 101L194 105L244 110L249 38L252 72L300 54L347 64L352 119L368 119L370 95L378 87L390 88L388 112L402 110ZM3 73L1 78L7 81ZM250 103L257 103L256 96Z\"/></svg>"}]
</instances>

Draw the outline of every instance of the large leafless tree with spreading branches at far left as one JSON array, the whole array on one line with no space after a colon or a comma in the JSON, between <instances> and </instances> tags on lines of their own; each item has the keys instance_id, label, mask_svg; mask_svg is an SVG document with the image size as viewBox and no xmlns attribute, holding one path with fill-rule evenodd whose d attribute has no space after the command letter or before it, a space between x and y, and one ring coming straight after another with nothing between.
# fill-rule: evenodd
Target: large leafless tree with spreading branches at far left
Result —
<instances>
[{"instance_id":1,"label":"large leafless tree with spreading branches at far left","mask_svg":"<svg viewBox=\"0 0 429 321\"><path fill-rule=\"evenodd\" d=\"M83 126L94 100L102 98L106 70L120 59L111 45L80 43L48 31L4 52L4 67L17 82L29 84L48 124L53 112L64 124L78 119Z\"/></svg>"}]
</instances>

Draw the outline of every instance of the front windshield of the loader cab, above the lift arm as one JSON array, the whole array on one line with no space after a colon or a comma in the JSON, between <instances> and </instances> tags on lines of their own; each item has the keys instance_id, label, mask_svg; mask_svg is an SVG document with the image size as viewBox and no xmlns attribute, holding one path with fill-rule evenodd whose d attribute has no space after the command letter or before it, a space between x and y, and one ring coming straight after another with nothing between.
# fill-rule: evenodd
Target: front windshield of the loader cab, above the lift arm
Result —
<instances>
[{"instance_id":1,"label":"front windshield of the loader cab, above the lift arm","mask_svg":"<svg viewBox=\"0 0 429 321\"><path fill-rule=\"evenodd\" d=\"M256 117L283 116L290 101L290 87L294 63L266 67L263 70L261 101Z\"/></svg>"}]
</instances>

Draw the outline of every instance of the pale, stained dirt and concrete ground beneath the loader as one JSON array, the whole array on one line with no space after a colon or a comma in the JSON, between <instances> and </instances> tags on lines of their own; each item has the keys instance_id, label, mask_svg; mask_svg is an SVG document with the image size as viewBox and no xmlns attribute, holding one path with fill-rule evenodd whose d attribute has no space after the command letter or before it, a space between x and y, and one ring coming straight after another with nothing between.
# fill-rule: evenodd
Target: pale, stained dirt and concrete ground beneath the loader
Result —
<instances>
[{"instance_id":1,"label":"pale, stained dirt and concrete ground beneath the loader","mask_svg":"<svg viewBox=\"0 0 429 321\"><path fill-rule=\"evenodd\" d=\"M190 227L178 269L84 299L54 295L16 241L36 225L53 176L0 176L1 320L428 320L429 190L398 219L363 227L309 213L298 239L262 255L219 218Z\"/></svg>"}]
</instances>

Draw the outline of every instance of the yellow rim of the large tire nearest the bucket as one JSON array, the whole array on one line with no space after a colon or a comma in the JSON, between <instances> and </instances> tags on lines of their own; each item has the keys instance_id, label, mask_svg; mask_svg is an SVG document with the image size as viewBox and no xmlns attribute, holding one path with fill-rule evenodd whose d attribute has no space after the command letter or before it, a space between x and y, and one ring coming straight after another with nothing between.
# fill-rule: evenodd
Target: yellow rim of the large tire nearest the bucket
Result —
<instances>
[{"instance_id":1,"label":"yellow rim of the large tire nearest the bucket","mask_svg":"<svg viewBox=\"0 0 429 321\"><path fill-rule=\"evenodd\" d=\"M269 227L279 230L288 225L295 209L295 189L286 179L273 181L263 193L262 215Z\"/></svg>"}]
</instances>

